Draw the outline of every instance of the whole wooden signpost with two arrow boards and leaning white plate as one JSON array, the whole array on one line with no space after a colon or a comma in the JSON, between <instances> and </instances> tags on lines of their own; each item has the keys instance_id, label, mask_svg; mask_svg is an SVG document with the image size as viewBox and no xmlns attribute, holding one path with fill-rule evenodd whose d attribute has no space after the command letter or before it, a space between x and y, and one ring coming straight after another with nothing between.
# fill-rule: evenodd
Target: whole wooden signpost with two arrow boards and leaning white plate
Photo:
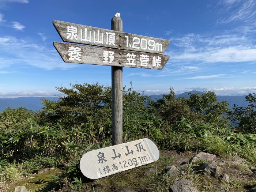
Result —
<instances>
[{"instance_id":1,"label":"whole wooden signpost with two arrow boards and leaning white plate","mask_svg":"<svg viewBox=\"0 0 256 192\"><path fill-rule=\"evenodd\" d=\"M96 179L157 161L159 151L149 139L122 144L123 67L162 69L169 59L162 53L170 41L123 33L118 13L111 20L111 30L58 20L53 20L53 25L63 41L76 43L54 42L64 62L111 66L112 147L86 153L80 161L82 173Z\"/></svg>"}]
</instances>

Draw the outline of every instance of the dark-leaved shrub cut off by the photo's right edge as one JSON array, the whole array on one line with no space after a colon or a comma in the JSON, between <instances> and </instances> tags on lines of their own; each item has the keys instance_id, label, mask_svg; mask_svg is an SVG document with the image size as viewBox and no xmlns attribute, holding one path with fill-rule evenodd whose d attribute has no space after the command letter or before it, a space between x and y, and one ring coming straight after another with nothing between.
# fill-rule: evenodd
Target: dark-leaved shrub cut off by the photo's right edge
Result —
<instances>
[{"instance_id":1,"label":"dark-leaved shrub cut off by the photo's right edge","mask_svg":"<svg viewBox=\"0 0 256 192\"><path fill-rule=\"evenodd\" d=\"M233 110L229 113L230 119L237 123L242 131L256 133L256 94L248 94L245 100L249 102L247 107L233 105Z\"/></svg>"}]
</instances>

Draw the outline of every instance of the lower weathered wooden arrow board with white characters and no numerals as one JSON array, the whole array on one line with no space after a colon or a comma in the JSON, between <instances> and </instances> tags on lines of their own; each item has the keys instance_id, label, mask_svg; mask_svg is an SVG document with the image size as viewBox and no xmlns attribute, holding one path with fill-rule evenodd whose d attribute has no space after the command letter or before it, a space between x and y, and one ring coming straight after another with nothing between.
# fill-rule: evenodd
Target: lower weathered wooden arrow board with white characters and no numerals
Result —
<instances>
[{"instance_id":1,"label":"lower weathered wooden arrow board with white characters and no numerals","mask_svg":"<svg viewBox=\"0 0 256 192\"><path fill-rule=\"evenodd\" d=\"M162 69L169 55L54 42L64 62Z\"/></svg>"}]
</instances>

